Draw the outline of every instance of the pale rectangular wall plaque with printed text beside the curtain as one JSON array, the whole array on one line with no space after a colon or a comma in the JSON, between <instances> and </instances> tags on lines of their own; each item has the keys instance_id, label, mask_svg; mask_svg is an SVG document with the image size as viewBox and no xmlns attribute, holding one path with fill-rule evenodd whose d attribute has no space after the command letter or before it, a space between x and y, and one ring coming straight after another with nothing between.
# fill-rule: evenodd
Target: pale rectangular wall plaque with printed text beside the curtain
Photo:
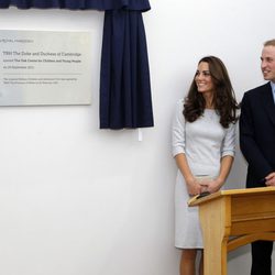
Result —
<instances>
[{"instance_id":1,"label":"pale rectangular wall plaque with printed text beside the curtain","mask_svg":"<svg viewBox=\"0 0 275 275\"><path fill-rule=\"evenodd\" d=\"M0 106L90 103L90 32L0 30Z\"/></svg>"}]
</instances>

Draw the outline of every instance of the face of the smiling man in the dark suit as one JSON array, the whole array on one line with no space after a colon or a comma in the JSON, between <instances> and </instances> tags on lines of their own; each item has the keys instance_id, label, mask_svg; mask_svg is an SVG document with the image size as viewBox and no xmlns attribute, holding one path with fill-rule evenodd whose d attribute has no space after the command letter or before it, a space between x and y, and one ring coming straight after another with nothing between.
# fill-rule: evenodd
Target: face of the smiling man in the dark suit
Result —
<instances>
[{"instance_id":1,"label":"face of the smiling man in the dark suit","mask_svg":"<svg viewBox=\"0 0 275 275\"><path fill-rule=\"evenodd\" d=\"M275 46L265 46L261 56L261 69L265 80L275 82Z\"/></svg>"}]
</instances>

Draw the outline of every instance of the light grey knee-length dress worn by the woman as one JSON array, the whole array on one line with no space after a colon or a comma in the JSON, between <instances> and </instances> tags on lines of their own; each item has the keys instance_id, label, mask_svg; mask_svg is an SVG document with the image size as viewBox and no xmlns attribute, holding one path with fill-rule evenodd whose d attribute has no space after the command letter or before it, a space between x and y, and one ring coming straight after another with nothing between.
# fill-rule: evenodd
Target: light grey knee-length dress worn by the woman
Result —
<instances>
[{"instance_id":1,"label":"light grey knee-length dress worn by the woman","mask_svg":"<svg viewBox=\"0 0 275 275\"><path fill-rule=\"evenodd\" d=\"M195 122L185 121L184 101L179 100L173 119L173 156L184 153L194 176L219 175L220 160L234 155L235 124L222 128L215 110L206 109ZM198 207L188 207L189 195L182 173L177 172L175 187L175 246L202 249Z\"/></svg>"}]
</instances>

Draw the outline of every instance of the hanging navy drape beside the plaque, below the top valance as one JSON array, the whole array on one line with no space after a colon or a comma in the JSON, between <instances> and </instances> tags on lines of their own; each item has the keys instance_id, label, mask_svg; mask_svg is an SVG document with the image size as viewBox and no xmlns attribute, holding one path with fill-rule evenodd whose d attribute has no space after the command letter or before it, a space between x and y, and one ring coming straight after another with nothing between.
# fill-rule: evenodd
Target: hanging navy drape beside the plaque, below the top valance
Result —
<instances>
[{"instance_id":1,"label":"hanging navy drape beside the plaque, below the top valance","mask_svg":"<svg viewBox=\"0 0 275 275\"><path fill-rule=\"evenodd\" d=\"M101 57L100 128L153 127L142 14L107 11Z\"/></svg>"}]
</instances>

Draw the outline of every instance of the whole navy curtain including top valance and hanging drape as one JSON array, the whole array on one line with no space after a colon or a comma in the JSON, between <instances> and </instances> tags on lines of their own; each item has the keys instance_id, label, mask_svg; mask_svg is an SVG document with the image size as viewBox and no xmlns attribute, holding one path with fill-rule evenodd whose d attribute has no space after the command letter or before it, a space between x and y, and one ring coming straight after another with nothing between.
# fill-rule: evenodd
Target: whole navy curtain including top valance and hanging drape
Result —
<instances>
[{"instance_id":1,"label":"whole navy curtain including top valance and hanging drape","mask_svg":"<svg viewBox=\"0 0 275 275\"><path fill-rule=\"evenodd\" d=\"M153 127L146 36L148 0L0 0L0 8L105 11L100 128Z\"/></svg>"}]
</instances>

